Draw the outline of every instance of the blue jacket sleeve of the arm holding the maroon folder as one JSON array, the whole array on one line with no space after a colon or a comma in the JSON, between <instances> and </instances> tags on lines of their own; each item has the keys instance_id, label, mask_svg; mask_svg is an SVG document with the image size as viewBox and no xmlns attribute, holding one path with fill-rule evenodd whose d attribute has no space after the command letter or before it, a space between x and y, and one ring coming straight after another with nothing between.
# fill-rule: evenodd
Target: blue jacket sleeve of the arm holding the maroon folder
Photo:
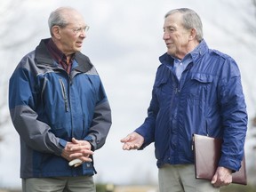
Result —
<instances>
[{"instance_id":1,"label":"blue jacket sleeve of the arm holding the maroon folder","mask_svg":"<svg viewBox=\"0 0 256 192\"><path fill-rule=\"evenodd\" d=\"M225 60L220 80L223 144L219 166L238 171L244 156L247 112L241 76L235 60Z\"/></svg>"}]
</instances>

